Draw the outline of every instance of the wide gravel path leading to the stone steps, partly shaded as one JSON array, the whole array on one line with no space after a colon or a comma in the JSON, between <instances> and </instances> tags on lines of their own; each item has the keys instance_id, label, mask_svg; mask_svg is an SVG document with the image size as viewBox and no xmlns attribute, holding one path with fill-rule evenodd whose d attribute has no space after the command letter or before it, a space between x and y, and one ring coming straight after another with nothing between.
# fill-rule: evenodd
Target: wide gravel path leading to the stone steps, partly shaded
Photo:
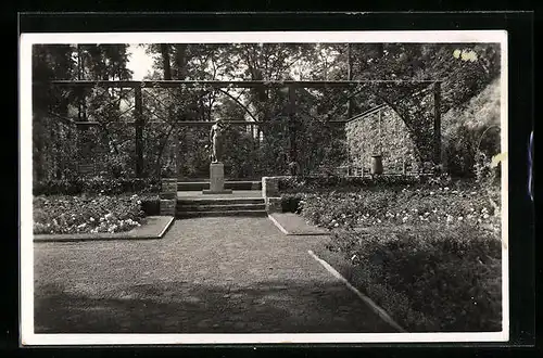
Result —
<instances>
[{"instance_id":1,"label":"wide gravel path leading to the stone steps, partly shaded","mask_svg":"<svg viewBox=\"0 0 543 358\"><path fill-rule=\"evenodd\" d=\"M393 332L267 218L178 220L162 240L35 243L37 333Z\"/></svg>"}]
</instances>

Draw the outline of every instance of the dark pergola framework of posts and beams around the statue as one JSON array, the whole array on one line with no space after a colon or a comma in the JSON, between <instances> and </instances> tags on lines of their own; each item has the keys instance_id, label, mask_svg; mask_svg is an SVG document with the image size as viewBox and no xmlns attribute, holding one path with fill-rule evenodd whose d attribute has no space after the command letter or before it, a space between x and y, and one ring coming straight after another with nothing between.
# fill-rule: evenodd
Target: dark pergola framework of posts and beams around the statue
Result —
<instances>
[{"instance_id":1,"label":"dark pergola framework of posts and beams around the statue","mask_svg":"<svg viewBox=\"0 0 543 358\"><path fill-rule=\"evenodd\" d=\"M433 133L434 133L434 163L441 161L441 80L51 80L48 86L71 87L71 88L116 88L134 89L135 91L135 120L127 123L136 127L136 176L140 177L143 168L143 103L141 90L144 88L205 88L205 89L225 89L225 88L287 88L288 89L288 114L289 114L289 135L290 135L290 156L295 162L296 158L296 120L295 120L295 101L296 89L299 88L345 88L354 89L361 85L367 84L428 84L433 86ZM371 110L370 110L371 111ZM329 120L330 124L342 125L359 117L356 115L346 120ZM78 126L99 126L98 122L73 122ZM249 120L229 120L231 125L268 125L266 122ZM213 122L176 122L178 126L212 126Z\"/></svg>"}]
</instances>

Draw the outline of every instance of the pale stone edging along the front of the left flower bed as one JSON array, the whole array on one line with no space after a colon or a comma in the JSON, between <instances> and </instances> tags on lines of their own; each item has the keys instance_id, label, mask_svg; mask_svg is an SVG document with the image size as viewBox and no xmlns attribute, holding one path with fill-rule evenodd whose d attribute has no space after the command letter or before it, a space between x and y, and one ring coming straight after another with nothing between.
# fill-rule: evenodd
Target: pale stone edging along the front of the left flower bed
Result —
<instances>
[{"instance_id":1,"label":"pale stone edging along the front of the left flower bed","mask_svg":"<svg viewBox=\"0 0 543 358\"><path fill-rule=\"evenodd\" d=\"M175 221L175 217L169 217L168 221L157 234L128 234L128 232L117 233L63 233L63 234L35 234L34 242L74 242L74 241L112 241L112 240L157 240L162 239Z\"/></svg>"}]
</instances>

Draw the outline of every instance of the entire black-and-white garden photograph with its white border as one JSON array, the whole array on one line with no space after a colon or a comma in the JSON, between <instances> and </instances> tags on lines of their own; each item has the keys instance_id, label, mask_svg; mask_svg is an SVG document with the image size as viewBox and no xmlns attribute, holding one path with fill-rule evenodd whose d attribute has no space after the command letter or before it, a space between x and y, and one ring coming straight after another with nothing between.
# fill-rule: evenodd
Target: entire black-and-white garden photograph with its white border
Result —
<instances>
[{"instance_id":1,"label":"entire black-and-white garden photograph with its white border","mask_svg":"<svg viewBox=\"0 0 543 358\"><path fill-rule=\"evenodd\" d=\"M505 31L23 36L28 344L507 340Z\"/></svg>"}]
</instances>

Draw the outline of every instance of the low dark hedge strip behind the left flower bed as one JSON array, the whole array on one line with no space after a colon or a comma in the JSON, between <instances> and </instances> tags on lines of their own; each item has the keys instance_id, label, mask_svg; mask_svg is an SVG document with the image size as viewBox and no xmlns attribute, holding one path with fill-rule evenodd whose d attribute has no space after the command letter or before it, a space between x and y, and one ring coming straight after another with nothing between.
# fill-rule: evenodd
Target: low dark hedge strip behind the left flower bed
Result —
<instances>
[{"instance_id":1,"label":"low dark hedge strip behind the left flower bed","mask_svg":"<svg viewBox=\"0 0 543 358\"><path fill-rule=\"evenodd\" d=\"M160 181L156 178L90 178L90 179L62 179L36 182L33 188L34 195L78 195L104 194L114 195L135 192L159 192Z\"/></svg>"}]
</instances>

